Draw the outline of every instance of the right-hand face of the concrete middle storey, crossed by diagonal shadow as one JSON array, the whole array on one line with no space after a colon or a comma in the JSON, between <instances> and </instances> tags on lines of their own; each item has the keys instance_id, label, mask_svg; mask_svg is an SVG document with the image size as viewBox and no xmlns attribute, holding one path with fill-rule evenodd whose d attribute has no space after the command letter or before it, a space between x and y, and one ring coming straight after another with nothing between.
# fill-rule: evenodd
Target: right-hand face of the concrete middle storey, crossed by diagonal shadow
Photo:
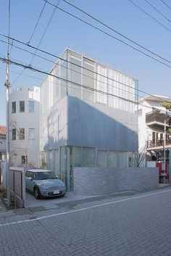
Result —
<instances>
[{"instance_id":1,"label":"right-hand face of the concrete middle storey, crossed by diagonal shadow","mask_svg":"<svg viewBox=\"0 0 171 256\"><path fill-rule=\"evenodd\" d=\"M138 116L68 96L68 144L138 150Z\"/></svg>"}]
</instances>

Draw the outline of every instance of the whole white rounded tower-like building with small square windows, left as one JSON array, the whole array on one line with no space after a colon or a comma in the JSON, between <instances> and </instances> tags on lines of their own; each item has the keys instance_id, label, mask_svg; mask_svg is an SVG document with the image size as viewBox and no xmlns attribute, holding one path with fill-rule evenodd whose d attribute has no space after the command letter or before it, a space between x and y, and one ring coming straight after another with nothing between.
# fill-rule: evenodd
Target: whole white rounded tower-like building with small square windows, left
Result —
<instances>
[{"instance_id":1,"label":"whole white rounded tower-like building with small square windows, left","mask_svg":"<svg viewBox=\"0 0 171 256\"><path fill-rule=\"evenodd\" d=\"M10 161L39 166L40 88L17 87L9 95Z\"/></svg>"}]
</instances>

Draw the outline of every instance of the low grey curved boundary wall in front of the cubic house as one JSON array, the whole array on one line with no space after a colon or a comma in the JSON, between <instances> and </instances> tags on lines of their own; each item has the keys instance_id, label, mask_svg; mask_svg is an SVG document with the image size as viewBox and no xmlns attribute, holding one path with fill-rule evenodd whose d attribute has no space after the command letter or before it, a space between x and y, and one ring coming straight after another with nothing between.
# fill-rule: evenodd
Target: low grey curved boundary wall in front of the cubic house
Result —
<instances>
[{"instance_id":1,"label":"low grey curved boundary wall in front of the cubic house","mask_svg":"<svg viewBox=\"0 0 171 256\"><path fill-rule=\"evenodd\" d=\"M157 168L74 168L76 194L103 195L158 185Z\"/></svg>"}]
</instances>

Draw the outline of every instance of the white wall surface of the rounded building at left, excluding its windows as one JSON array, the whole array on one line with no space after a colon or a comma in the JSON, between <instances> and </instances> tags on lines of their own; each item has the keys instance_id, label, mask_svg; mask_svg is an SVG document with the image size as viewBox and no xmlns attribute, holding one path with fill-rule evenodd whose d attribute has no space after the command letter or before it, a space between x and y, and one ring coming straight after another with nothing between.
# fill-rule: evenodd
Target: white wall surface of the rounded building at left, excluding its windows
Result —
<instances>
[{"instance_id":1,"label":"white wall surface of the rounded building at left, excluding its windows","mask_svg":"<svg viewBox=\"0 0 171 256\"><path fill-rule=\"evenodd\" d=\"M25 101L25 112L20 112L20 101ZM29 112L28 101L35 102L34 112ZM12 113L12 102L16 102L16 113ZM28 155L28 164L39 166L39 119L40 119L40 88L36 86L23 86L15 88L9 96L9 120L10 120L10 151L16 151L17 157L12 157L14 165L21 164L21 157L24 151ZM16 125L17 131L20 128L25 128L25 139L12 140L12 128ZM35 138L28 139L28 128L35 129Z\"/></svg>"}]
</instances>

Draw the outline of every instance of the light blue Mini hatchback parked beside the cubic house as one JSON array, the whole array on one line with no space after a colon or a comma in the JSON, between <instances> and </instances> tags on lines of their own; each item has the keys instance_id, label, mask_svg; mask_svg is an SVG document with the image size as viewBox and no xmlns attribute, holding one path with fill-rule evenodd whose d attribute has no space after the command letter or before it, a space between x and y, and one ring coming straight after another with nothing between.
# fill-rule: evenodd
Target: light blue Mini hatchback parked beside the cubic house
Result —
<instances>
[{"instance_id":1,"label":"light blue Mini hatchback parked beside the cubic house","mask_svg":"<svg viewBox=\"0 0 171 256\"><path fill-rule=\"evenodd\" d=\"M36 199L41 197L64 196L67 189L51 170L33 169L25 173L25 189L33 192Z\"/></svg>"}]
</instances>

